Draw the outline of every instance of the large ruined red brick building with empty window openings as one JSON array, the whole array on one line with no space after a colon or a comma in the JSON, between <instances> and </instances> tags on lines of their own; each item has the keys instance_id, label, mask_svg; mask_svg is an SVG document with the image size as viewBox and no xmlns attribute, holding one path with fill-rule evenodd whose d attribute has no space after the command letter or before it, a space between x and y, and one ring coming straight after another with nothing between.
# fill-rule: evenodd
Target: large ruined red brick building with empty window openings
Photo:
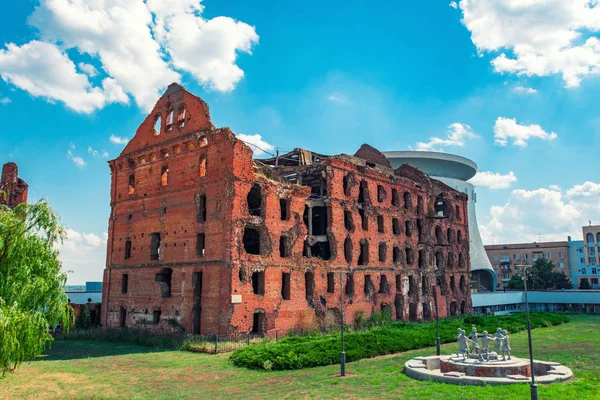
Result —
<instances>
[{"instance_id":1,"label":"large ruined red brick building with empty window openings","mask_svg":"<svg viewBox=\"0 0 600 400\"><path fill-rule=\"evenodd\" d=\"M109 162L102 323L235 335L469 312L467 197L377 150L267 160L172 84ZM340 271L343 277L340 283Z\"/></svg>"}]
</instances>

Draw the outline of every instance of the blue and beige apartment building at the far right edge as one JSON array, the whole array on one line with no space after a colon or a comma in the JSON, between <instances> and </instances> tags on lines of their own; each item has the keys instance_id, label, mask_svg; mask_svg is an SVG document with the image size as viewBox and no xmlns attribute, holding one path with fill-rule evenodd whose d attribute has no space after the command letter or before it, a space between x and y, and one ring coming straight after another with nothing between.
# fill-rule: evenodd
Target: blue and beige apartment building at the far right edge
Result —
<instances>
[{"instance_id":1,"label":"blue and beige apartment building at the far right edge","mask_svg":"<svg viewBox=\"0 0 600 400\"><path fill-rule=\"evenodd\" d=\"M571 282L578 288L581 280L587 278L593 289L600 289L600 225L584 226L582 233L583 240L569 237Z\"/></svg>"}]
</instances>

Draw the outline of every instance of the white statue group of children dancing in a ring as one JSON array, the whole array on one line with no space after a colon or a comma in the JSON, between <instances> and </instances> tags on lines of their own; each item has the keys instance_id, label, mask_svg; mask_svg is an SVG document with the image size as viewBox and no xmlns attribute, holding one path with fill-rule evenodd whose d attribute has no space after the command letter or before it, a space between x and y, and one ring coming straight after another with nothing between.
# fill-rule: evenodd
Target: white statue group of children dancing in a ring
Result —
<instances>
[{"instance_id":1,"label":"white statue group of children dancing in a ring","mask_svg":"<svg viewBox=\"0 0 600 400\"><path fill-rule=\"evenodd\" d=\"M458 328L458 353L457 356L463 356L463 360L467 358L478 358L480 361L489 361L490 358L497 358L498 354L502 354L502 360L510 360L510 339L506 329L498 328L496 333L492 336L483 331L483 333L477 333L477 328L473 327L471 333L466 336L464 329ZM473 351L469 349L469 342L473 345ZM494 342L494 352L490 351L490 343ZM472 357L471 354L474 356ZM493 356L493 357L491 357Z\"/></svg>"}]
</instances>

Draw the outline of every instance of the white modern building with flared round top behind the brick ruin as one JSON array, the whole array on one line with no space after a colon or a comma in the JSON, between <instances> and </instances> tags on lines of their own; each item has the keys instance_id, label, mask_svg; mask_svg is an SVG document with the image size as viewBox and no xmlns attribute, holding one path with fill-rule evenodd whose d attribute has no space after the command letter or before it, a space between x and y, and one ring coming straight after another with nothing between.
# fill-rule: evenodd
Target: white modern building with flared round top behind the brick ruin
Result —
<instances>
[{"instance_id":1,"label":"white modern building with flared round top behind the brick ruin","mask_svg":"<svg viewBox=\"0 0 600 400\"><path fill-rule=\"evenodd\" d=\"M477 173L477 164L468 158L434 151L384 151L392 168L409 164L434 179L466 193L469 196L469 256L471 258L471 290L485 292L496 290L496 273L487 257L475 214L477 195L472 184L467 182Z\"/></svg>"}]
</instances>

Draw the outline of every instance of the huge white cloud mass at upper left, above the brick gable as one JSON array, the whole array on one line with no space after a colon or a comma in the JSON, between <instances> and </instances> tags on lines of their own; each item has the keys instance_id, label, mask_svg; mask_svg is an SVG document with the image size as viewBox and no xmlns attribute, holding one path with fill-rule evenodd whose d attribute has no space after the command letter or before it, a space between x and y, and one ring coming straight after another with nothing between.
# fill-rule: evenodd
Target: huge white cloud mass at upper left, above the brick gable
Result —
<instances>
[{"instance_id":1,"label":"huge white cloud mass at upper left, above the brick gable","mask_svg":"<svg viewBox=\"0 0 600 400\"><path fill-rule=\"evenodd\" d=\"M233 90L244 76L236 64L238 53L250 54L259 37L254 27L232 18L203 18L200 3L40 0L29 23L41 41L9 44L3 51L9 54L0 53L0 76L34 96L86 113L127 103L129 95L149 110L167 85L180 81L179 71L208 88ZM78 73L65 50L91 57L101 72L79 63L83 73ZM102 87L94 87L88 76L100 73L106 76Z\"/></svg>"}]
</instances>

